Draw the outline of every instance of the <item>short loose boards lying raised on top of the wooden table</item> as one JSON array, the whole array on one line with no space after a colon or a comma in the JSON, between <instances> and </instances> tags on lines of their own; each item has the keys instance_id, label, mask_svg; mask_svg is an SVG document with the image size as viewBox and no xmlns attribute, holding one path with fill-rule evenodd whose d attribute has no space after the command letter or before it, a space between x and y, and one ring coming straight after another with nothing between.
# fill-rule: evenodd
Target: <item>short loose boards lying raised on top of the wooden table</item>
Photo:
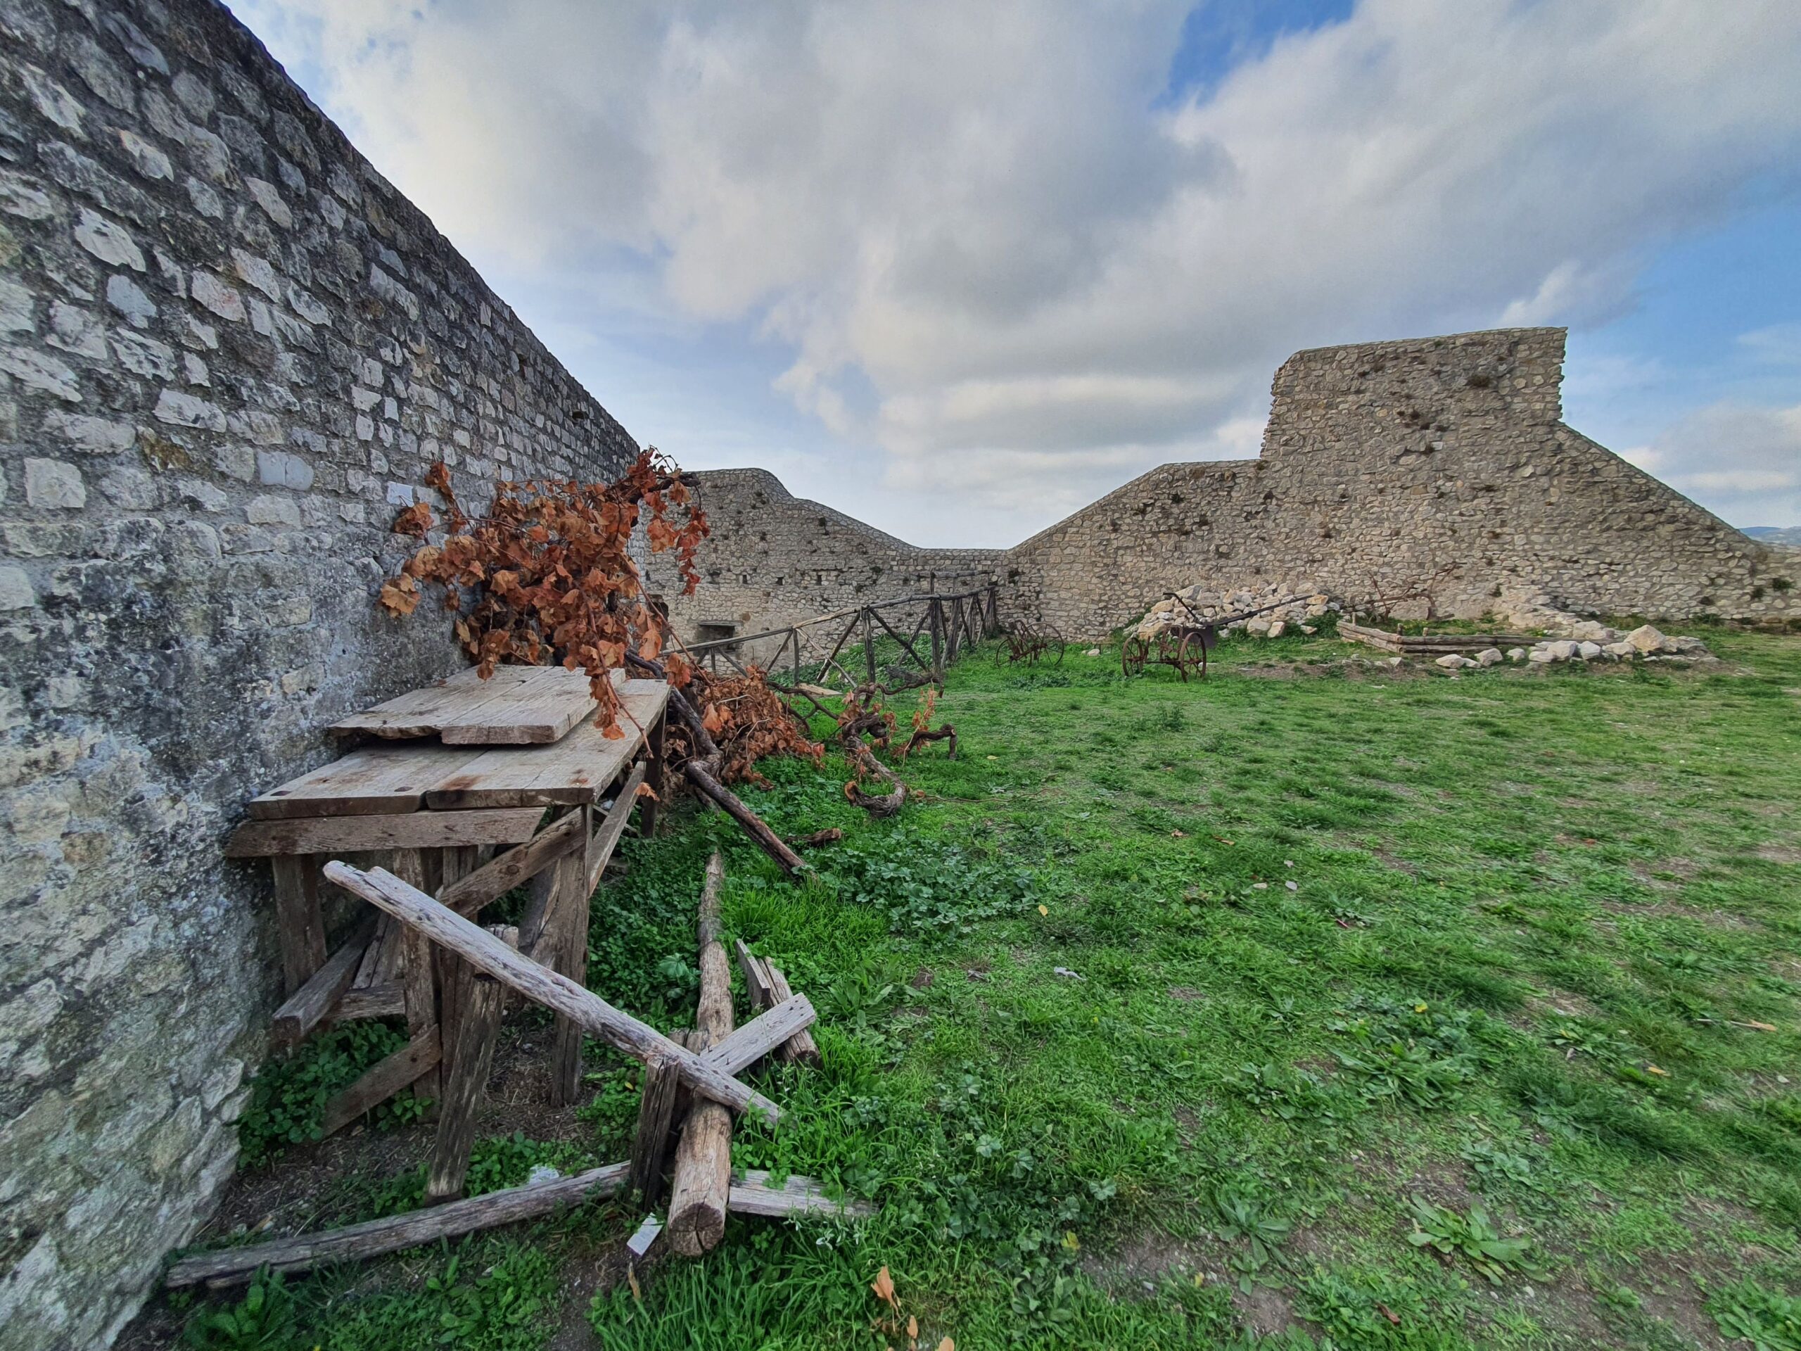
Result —
<instances>
[{"instance_id":1,"label":"short loose boards lying raised on top of the wooden table","mask_svg":"<svg viewBox=\"0 0 1801 1351\"><path fill-rule=\"evenodd\" d=\"M412 690L331 724L333 735L385 739L439 735L445 746L540 746L560 740L594 712L589 677L562 666L475 668Z\"/></svg>"}]
</instances>

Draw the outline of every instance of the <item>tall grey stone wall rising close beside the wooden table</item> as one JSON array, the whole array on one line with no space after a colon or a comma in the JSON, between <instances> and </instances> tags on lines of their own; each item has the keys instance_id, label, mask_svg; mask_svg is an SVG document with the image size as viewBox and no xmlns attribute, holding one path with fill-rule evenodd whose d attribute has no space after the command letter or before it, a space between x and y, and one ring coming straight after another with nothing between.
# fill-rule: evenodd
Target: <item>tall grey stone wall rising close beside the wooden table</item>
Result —
<instances>
[{"instance_id":1,"label":"tall grey stone wall rising close beside the wooden table","mask_svg":"<svg viewBox=\"0 0 1801 1351\"><path fill-rule=\"evenodd\" d=\"M0 1347L88 1347L234 1160L279 998L220 845L457 665L427 467L632 440L209 0L0 0ZM472 494L481 497L481 492Z\"/></svg>"}]
</instances>

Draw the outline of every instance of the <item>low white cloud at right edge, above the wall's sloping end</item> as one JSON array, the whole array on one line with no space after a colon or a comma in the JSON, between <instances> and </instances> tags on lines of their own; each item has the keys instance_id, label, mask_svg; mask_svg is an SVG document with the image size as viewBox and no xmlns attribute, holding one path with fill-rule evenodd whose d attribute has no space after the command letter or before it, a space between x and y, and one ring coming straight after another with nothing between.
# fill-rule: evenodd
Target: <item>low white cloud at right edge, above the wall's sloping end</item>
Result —
<instances>
[{"instance_id":1,"label":"low white cloud at right edge, above the wall's sloping end","mask_svg":"<svg viewBox=\"0 0 1801 1351\"><path fill-rule=\"evenodd\" d=\"M1713 403L1623 454L1736 524L1801 522L1801 405Z\"/></svg>"}]
</instances>

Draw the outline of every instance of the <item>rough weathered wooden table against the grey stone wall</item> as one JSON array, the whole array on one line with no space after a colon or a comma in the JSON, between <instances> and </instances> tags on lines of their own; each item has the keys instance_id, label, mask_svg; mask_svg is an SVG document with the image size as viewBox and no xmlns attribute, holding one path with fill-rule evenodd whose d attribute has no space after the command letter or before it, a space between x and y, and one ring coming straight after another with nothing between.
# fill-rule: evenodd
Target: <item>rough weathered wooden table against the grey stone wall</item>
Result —
<instances>
[{"instance_id":1,"label":"rough weathered wooden table against the grey stone wall","mask_svg":"<svg viewBox=\"0 0 1801 1351\"><path fill-rule=\"evenodd\" d=\"M331 1021L407 1020L407 1047L339 1093L326 1108L324 1129L330 1135L409 1084L439 1099L429 1185L434 1200L461 1192L499 991L385 915L328 951L321 868L330 859L375 854L364 866L380 863L470 919L513 886L529 884L520 922L495 931L585 984L589 897L639 800L641 832L656 829L657 798L641 798L639 785L652 794L663 789L670 695L663 681L618 681L621 735L607 737L593 724L585 677L576 688L560 668L501 672L535 674L497 674L497 688L452 677L337 724L340 735L389 740L358 746L252 798L250 820L225 850L231 857L268 857L274 870L288 994L276 1012L277 1043L294 1045ZM551 697L555 686L566 686L560 701ZM466 715L477 708L486 712ZM575 719L571 708L580 708ZM544 728L558 724L567 726L546 740ZM506 744L445 744L483 731ZM438 735L427 740L425 733ZM396 740L402 737L411 740ZM611 807L603 807L609 798ZM558 1018L551 1090L558 1102L575 1101L580 1052L580 1029Z\"/></svg>"}]
</instances>

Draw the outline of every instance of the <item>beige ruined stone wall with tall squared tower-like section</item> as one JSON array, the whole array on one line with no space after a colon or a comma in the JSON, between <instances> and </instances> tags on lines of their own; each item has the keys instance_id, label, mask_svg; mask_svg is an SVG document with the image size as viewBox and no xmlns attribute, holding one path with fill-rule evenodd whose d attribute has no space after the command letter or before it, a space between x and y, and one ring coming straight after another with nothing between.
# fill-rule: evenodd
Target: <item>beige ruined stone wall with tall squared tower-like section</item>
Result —
<instances>
[{"instance_id":1,"label":"beige ruined stone wall with tall squared tower-like section","mask_svg":"<svg viewBox=\"0 0 1801 1351\"><path fill-rule=\"evenodd\" d=\"M987 555L1003 611L1099 638L1169 589L1288 582L1403 612L1482 614L1543 596L1617 616L1801 618L1792 553L1563 425L1563 337L1529 328L1300 351L1275 373L1257 459L1162 465ZM821 575L854 557L843 539L834 522L785 548L810 549ZM708 576L731 578L753 557L742 533L715 544ZM937 553L910 557L933 566ZM731 593L744 623L807 609L792 573L774 573L767 594Z\"/></svg>"}]
</instances>

